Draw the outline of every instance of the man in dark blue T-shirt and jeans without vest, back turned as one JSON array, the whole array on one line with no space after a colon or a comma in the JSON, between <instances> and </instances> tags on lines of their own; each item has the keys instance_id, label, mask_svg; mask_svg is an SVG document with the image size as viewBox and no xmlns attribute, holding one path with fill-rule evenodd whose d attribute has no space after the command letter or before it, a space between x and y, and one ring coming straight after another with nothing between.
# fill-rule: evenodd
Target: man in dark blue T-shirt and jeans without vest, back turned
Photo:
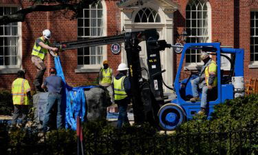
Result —
<instances>
[{"instance_id":1,"label":"man in dark blue T-shirt and jeans without vest, back turned","mask_svg":"<svg viewBox=\"0 0 258 155\"><path fill-rule=\"evenodd\" d=\"M62 100L62 90L63 81L61 77L56 76L56 68L50 68L50 76L48 76L43 84L41 85L43 89L48 90L47 105L45 107L45 115L43 120L43 132L50 130L49 122L50 116L52 115L52 110L57 106L56 114L56 127L61 129L63 127L63 116L61 112L61 100Z\"/></svg>"}]
</instances>

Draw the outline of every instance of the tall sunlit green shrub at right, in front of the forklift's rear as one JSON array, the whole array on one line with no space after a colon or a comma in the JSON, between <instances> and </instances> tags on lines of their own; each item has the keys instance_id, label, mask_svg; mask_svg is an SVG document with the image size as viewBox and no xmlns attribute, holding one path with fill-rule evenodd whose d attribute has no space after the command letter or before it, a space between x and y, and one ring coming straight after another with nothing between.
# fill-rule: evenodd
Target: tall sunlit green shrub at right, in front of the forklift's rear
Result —
<instances>
[{"instance_id":1,"label":"tall sunlit green shrub at right, in front of the forklift's rear","mask_svg":"<svg viewBox=\"0 0 258 155\"><path fill-rule=\"evenodd\" d=\"M218 149L222 154L240 154L248 152L250 147L255 148L258 144L258 137L255 132L250 134L248 130L256 130L258 127L258 95L250 95L240 97L234 100L228 100L223 104L215 106L215 111L212 114L210 121L204 116L197 116L193 121L189 121L181 125L177 129L177 134L190 136L188 139L181 141L183 154L193 153L195 150L201 150L203 154L219 154ZM226 134L228 132L232 134ZM208 133L221 134L208 134ZM202 134L200 134L202 133ZM207 133L211 135L207 137L203 135ZM249 133L248 135L246 133ZM241 138L244 141L241 141ZM200 144L196 144L199 142ZM190 145L190 146L186 146ZM199 146L199 148L196 148ZM183 148L189 147L190 150ZM239 148L241 147L241 152ZM252 150L252 154L257 153L256 149ZM195 152L196 153L196 152Z\"/></svg>"}]
</instances>

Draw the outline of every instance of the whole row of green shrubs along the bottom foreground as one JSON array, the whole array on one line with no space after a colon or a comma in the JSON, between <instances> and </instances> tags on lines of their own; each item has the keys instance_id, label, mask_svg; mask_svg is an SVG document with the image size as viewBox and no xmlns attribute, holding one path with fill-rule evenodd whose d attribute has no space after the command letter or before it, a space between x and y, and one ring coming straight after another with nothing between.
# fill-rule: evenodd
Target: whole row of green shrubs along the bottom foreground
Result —
<instances>
[{"instance_id":1,"label":"whole row of green shrubs along the bottom foreground","mask_svg":"<svg viewBox=\"0 0 258 155\"><path fill-rule=\"evenodd\" d=\"M258 154L257 112L257 95L226 101L215 107L210 121L196 116L170 135L149 124L118 130L105 120L87 122L83 123L83 147L85 154ZM36 129L8 132L5 125L0 124L2 152L10 147L12 154L77 152L74 131L53 130L42 136Z\"/></svg>"}]
</instances>

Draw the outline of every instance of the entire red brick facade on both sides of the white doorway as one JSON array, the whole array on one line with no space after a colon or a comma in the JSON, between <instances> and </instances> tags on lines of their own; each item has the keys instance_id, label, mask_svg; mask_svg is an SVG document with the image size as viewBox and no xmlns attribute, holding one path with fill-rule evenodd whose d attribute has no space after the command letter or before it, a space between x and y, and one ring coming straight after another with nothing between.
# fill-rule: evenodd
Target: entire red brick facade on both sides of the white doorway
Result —
<instances>
[{"instance_id":1,"label":"entire red brick facade on both sides of the white doorway","mask_svg":"<svg viewBox=\"0 0 258 155\"><path fill-rule=\"evenodd\" d=\"M107 35L120 34L120 10L117 8L116 1L106 1L107 6ZM174 34L182 33L185 25L185 8L188 0L175 0L180 6L179 10L174 14ZM225 1L210 0L211 3L211 20L212 20L212 41L219 41L222 45L230 45L234 48L244 48L244 72L245 81L250 78L256 78L258 69L249 69L250 61L250 9L258 9L258 6L248 5L248 0ZM2 4L12 4L19 1L1 0ZM22 8L30 6L28 0L21 3ZM32 12L28 14L22 23L22 66L26 70L26 78L33 86L32 80L36 74L36 69L31 63L31 51L34 40L41 37L44 29L52 31L52 39L50 41L74 41L77 39L77 22L76 19L71 20L72 12L61 14L61 12ZM174 37L175 38L175 37ZM175 42L175 41L174 41ZM97 73L75 73L77 68L77 52L76 50L67 50L60 54L65 78L69 85L78 85L86 81L94 81ZM174 55L174 73L177 72L177 66L180 62L180 54ZM120 54L111 54L110 45L107 45L107 60L109 66L116 70L120 63ZM52 57L48 54L45 60L47 69L54 66ZM47 72L45 76L47 76ZM0 74L0 88L10 89L15 74Z\"/></svg>"}]
</instances>

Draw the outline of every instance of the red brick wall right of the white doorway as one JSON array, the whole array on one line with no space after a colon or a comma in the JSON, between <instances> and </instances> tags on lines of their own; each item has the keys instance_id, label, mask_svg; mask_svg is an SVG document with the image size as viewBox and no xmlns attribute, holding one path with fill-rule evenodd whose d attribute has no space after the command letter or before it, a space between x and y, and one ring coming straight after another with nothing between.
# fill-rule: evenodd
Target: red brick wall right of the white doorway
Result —
<instances>
[{"instance_id":1,"label":"red brick wall right of the white doorway","mask_svg":"<svg viewBox=\"0 0 258 155\"><path fill-rule=\"evenodd\" d=\"M176 32L181 34L185 24L185 8L188 1L178 0L177 2L180 5L180 9L174 15L174 34ZM212 41L219 41L222 45L233 48L244 48L245 81L247 83L250 78L257 78L258 69L249 69L248 65L250 63L250 9L258 9L258 5L250 5L248 0L210 0L209 2L212 12ZM174 74L176 74L181 54L174 54L174 56Z\"/></svg>"}]
</instances>

